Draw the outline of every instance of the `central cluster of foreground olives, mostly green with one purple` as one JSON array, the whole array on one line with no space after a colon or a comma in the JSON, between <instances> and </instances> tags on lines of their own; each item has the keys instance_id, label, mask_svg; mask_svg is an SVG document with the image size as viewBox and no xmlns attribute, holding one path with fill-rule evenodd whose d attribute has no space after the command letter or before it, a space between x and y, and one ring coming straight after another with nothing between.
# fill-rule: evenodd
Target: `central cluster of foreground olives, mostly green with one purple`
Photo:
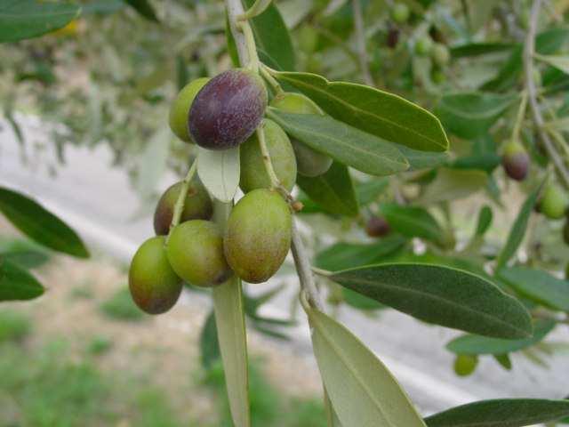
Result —
<instances>
[{"instance_id":1,"label":"central cluster of foreground olives, mostly green with one purple","mask_svg":"<svg viewBox=\"0 0 569 427\"><path fill-rule=\"evenodd\" d=\"M212 221L212 198L196 176L167 189L156 206L154 229L136 252L129 271L132 299L150 314L170 310L182 283L218 286L233 275L249 283L271 278L291 246L293 218L282 194L273 189L255 132L262 126L271 164L281 190L290 191L297 172L325 173L332 159L301 141L291 140L275 122L263 119L268 93L263 80L248 69L231 69L198 78L186 85L172 103L170 127L180 140L204 149L240 146L242 197L228 217L227 227ZM271 106L296 114L324 114L298 93L280 93ZM172 227L180 191L188 189L180 222Z\"/></svg>"}]
</instances>

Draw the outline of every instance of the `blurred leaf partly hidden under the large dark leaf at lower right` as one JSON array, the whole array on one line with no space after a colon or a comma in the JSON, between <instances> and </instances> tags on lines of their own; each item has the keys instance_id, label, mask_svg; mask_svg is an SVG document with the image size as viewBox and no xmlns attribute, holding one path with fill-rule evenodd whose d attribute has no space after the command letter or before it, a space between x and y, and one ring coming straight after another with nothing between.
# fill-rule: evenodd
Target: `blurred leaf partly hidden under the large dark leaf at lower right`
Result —
<instances>
[{"instance_id":1,"label":"blurred leaf partly hidden under the large dark leaf at lower right","mask_svg":"<svg viewBox=\"0 0 569 427\"><path fill-rule=\"evenodd\" d=\"M533 326L533 335L522 340L503 340L480 335L462 335L446 344L446 349L456 354L501 355L532 347L549 334L556 326L552 320L538 320Z\"/></svg>"}]
</instances>

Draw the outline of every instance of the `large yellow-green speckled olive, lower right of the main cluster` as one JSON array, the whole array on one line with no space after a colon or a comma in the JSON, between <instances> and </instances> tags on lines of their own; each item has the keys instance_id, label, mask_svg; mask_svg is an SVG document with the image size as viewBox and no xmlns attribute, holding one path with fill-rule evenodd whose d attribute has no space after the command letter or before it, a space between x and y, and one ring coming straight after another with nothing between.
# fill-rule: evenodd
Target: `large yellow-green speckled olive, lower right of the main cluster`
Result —
<instances>
[{"instance_id":1,"label":"large yellow-green speckled olive, lower right of the main cluster","mask_svg":"<svg viewBox=\"0 0 569 427\"><path fill-rule=\"evenodd\" d=\"M249 283L271 278L291 246L293 217L276 191L253 189L229 215L225 257L236 275Z\"/></svg>"}]
</instances>

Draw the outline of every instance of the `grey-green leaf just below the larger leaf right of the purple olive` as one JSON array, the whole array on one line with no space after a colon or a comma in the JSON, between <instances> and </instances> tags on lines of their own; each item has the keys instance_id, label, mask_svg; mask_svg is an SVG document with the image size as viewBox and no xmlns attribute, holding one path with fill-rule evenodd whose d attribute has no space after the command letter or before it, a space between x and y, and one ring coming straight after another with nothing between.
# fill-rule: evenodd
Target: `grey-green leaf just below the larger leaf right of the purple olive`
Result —
<instances>
[{"instance_id":1,"label":"grey-green leaf just below the larger leaf right of the purple olive","mask_svg":"<svg viewBox=\"0 0 569 427\"><path fill-rule=\"evenodd\" d=\"M393 144L332 117L290 114L273 108L269 108L267 114L297 140L358 171L389 175L409 167Z\"/></svg>"}]
</instances>

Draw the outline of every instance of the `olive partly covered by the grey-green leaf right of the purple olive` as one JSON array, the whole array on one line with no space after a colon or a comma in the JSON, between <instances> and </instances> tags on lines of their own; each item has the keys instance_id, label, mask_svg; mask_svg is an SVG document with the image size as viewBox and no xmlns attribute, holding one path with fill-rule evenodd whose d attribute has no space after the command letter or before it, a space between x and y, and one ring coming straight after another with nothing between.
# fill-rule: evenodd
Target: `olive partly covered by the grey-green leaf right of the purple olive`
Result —
<instances>
[{"instance_id":1,"label":"olive partly covered by the grey-green leaf right of the purple olive","mask_svg":"<svg viewBox=\"0 0 569 427\"><path fill-rule=\"evenodd\" d=\"M294 114L320 114L324 116L324 111L317 104L302 95L301 93L282 93L277 95L270 105L276 109L281 109L287 113ZM332 165L332 158L311 149L308 145L291 140L298 172L304 176L318 176L325 173Z\"/></svg>"}]
</instances>

